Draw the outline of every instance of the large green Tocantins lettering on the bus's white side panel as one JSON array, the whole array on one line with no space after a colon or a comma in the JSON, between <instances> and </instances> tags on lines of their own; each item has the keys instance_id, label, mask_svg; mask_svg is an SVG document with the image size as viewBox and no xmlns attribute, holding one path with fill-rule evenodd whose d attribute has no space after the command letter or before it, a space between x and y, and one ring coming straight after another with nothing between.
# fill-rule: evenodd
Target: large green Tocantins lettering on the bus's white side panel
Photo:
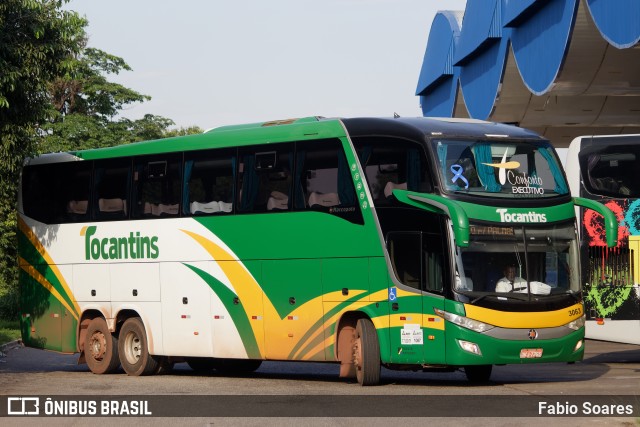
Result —
<instances>
[{"instance_id":1,"label":"large green Tocantins lettering on the bus's white side panel","mask_svg":"<svg viewBox=\"0 0 640 427\"><path fill-rule=\"evenodd\" d=\"M85 259L156 259L160 255L158 237L141 236L139 231L124 237L97 237L98 227L92 225L80 232L84 236Z\"/></svg>"}]
</instances>

